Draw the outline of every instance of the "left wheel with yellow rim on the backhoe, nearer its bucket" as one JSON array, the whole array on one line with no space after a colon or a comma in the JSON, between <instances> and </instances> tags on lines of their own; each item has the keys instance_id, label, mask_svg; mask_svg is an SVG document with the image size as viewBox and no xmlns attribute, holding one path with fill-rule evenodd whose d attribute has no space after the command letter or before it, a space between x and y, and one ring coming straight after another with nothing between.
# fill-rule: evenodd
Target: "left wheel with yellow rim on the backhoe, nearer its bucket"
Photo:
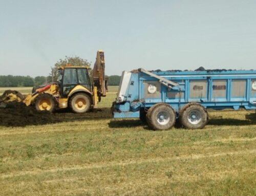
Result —
<instances>
[{"instance_id":1,"label":"left wheel with yellow rim on the backhoe, nearer its bucket","mask_svg":"<svg viewBox=\"0 0 256 196\"><path fill-rule=\"evenodd\" d=\"M56 108L56 102L54 97L47 93L42 93L38 95L35 99L34 104L37 111L54 112Z\"/></svg>"}]
</instances>

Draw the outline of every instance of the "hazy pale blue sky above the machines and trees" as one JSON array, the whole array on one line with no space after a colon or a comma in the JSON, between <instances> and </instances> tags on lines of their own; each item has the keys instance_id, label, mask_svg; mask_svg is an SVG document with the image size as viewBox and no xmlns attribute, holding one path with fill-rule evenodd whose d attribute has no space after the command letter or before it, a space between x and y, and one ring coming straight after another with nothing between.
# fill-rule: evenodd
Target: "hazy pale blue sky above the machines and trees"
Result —
<instances>
[{"instance_id":1,"label":"hazy pale blue sky above the machines and trees","mask_svg":"<svg viewBox=\"0 0 256 196\"><path fill-rule=\"evenodd\" d=\"M256 69L255 0L0 0L0 75L48 75L59 58L123 70Z\"/></svg>"}]
</instances>

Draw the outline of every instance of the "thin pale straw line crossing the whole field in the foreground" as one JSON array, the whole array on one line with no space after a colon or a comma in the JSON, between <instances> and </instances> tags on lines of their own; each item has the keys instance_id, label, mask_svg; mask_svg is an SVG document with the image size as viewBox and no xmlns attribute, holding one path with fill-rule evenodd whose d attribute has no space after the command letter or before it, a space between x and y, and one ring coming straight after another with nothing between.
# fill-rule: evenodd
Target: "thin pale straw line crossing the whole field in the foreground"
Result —
<instances>
[{"instance_id":1,"label":"thin pale straw line crossing the whole field in the foreground","mask_svg":"<svg viewBox=\"0 0 256 196\"><path fill-rule=\"evenodd\" d=\"M90 164L90 165L74 165L73 167L62 167L62 168L52 168L52 169L36 169L32 171L19 171L19 172L12 172L9 174L1 175L0 178L12 178L17 176L24 176L24 175L37 175L38 173L45 173L45 172L57 172L57 171L69 171L69 170L80 170L80 169L96 169L96 168L104 168L104 167L113 167L113 166L125 166L130 164L142 164L142 163L156 163L156 162L164 162L170 160L184 160L184 159L203 159L203 158L210 158L210 157L221 157L221 156L230 156L230 155L244 155L244 154L256 154L256 149L253 150L241 150L241 151L233 151L233 152L226 152L226 153L218 153L212 155L190 155L190 156L182 156L182 157L175 157L175 158L154 158L154 159L137 159L132 161L122 161L122 162L110 162L110 163L103 163L103 164Z\"/></svg>"}]
</instances>

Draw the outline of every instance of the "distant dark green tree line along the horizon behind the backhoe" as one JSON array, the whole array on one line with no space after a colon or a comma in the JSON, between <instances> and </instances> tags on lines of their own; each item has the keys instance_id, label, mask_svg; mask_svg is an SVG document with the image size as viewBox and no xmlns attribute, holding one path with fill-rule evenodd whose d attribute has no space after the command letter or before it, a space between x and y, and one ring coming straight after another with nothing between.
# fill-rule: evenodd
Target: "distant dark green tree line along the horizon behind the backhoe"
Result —
<instances>
[{"instance_id":1,"label":"distant dark green tree line along the horizon behind the backhoe","mask_svg":"<svg viewBox=\"0 0 256 196\"><path fill-rule=\"evenodd\" d=\"M106 76L108 79L108 85L119 85L121 76L113 75ZM52 81L52 76L0 76L0 87L27 87L38 86L43 83Z\"/></svg>"}]
</instances>

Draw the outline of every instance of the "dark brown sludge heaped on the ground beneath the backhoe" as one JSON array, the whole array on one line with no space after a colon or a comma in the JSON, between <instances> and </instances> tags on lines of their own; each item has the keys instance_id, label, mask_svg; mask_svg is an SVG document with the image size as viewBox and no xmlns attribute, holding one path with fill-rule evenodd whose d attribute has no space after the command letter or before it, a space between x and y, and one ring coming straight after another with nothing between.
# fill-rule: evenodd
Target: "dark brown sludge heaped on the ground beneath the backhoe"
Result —
<instances>
[{"instance_id":1,"label":"dark brown sludge heaped on the ground beneath the backhoe","mask_svg":"<svg viewBox=\"0 0 256 196\"><path fill-rule=\"evenodd\" d=\"M42 125L86 119L111 118L110 108L93 109L88 113L74 114L69 110L57 110L55 113L37 111L33 106L20 102L10 102L0 108L0 126Z\"/></svg>"}]
</instances>

